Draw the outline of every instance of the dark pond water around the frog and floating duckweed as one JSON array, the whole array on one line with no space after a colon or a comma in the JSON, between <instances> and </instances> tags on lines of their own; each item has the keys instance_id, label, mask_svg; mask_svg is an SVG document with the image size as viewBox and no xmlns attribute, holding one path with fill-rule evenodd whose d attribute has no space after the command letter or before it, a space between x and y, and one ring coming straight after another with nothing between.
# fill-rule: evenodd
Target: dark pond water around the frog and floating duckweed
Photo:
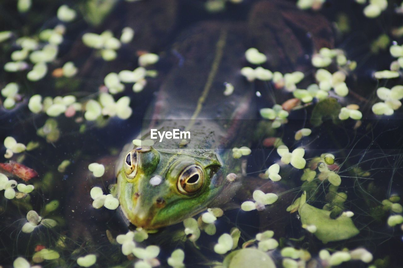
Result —
<instances>
[{"instance_id":1,"label":"dark pond water around the frog and floating duckweed","mask_svg":"<svg viewBox=\"0 0 403 268\"><path fill-rule=\"evenodd\" d=\"M199 85L197 79L207 78L210 69L192 73L198 69L180 68L183 64L187 67L189 62L193 64L189 66L203 65L204 58L206 61L211 61L214 55L210 51L199 50L201 46L197 44L203 43L206 47L209 47L208 45L214 47L217 39L213 38L214 27L219 29L222 25L229 25L231 29L238 29L239 38L231 40L234 41L233 50L239 50L239 62L243 64L226 66L228 70L224 70L236 74L233 82L234 99L231 99L233 103L230 104L233 105L234 102L238 104L235 106L243 104L243 99L237 95L239 94L237 89L241 89L242 93L249 92L251 96L253 95L251 116L243 121L245 126L253 127L247 129L248 133L243 139L247 140L247 143L240 144L251 148L251 154L242 157L245 179L249 181L244 183L235 197L229 197L228 201L231 202L222 205L225 211L214 223L215 235L207 235L201 231L200 238L193 243L186 237L183 223L178 223L164 227L158 233L150 233L148 239L136 243L138 247L148 245L160 247L158 261L149 261L147 264L159 262L161 267L169 267L167 259L172 251L178 248L185 252L186 267L218 265L227 267L229 262L224 264L222 262L230 252L217 254L214 252L214 245L220 235L229 233L231 228L237 227L241 231L238 249L256 248L256 241L249 240L255 239L259 232L273 230L274 238L279 245L277 249L267 251L267 254L277 267L283 267L285 257L280 252L285 247L303 249L310 253L312 258L296 258L300 262L300 267L305 263L309 267L327 267L328 263L318 257L322 249L327 249L332 254L343 250L348 252L358 247L371 252L373 260L369 263L354 260L344 262L341 266L402 267L403 225L400 223L390 227L387 224L389 216L402 213L392 212L382 205L382 200L403 194L402 111L397 109L393 115L374 115L371 110L372 105L380 101L376 96L376 89L379 87L390 89L395 85L402 85L403 82L401 68L398 78L376 80L373 77L374 71L388 70L391 62L395 60L389 54L392 41L402 44L401 36L392 35L393 29L403 25L401 14L395 12L400 3L389 1L388 8L378 18L368 19L362 12L363 6L352 0L327 0L320 10L299 10L294 6L294 1L243 0L239 4L227 1L224 9L217 12L208 11L206 2L199 0L116 1L112 4L113 2L113 0L33 1L31 9L26 13L17 11L14 0L4 0L0 3L0 31L13 32L9 40L0 43L2 66L11 61L10 54L13 51L21 49L16 43L17 38L23 36L37 38L40 31L53 29L58 24L66 27L63 41L58 45L58 56L47 63L48 73L41 80L33 82L27 79L27 72L33 65L29 59L26 60L29 63L27 70L0 71L0 88L4 88L9 82L17 82L20 94L15 97L17 103L12 109L0 106L0 140L12 136L17 142L25 145L31 141L38 142L39 145L33 150L15 153L11 159L3 157L6 148L1 147L1 163L8 163L9 160L23 163L34 169L38 176L24 182L4 172L9 179L15 179L18 183L33 184L35 189L24 198L11 200L3 196L4 191L0 191L0 265L12 267L17 257L23 257L31 265L35 265L33 256L43 247L59 254L59 258L38 263L43 267L76 267L77 258L87 254L97 256L94 266L98 267L133 267L139 261L133 254L123 255L121 245L114 240L117 235L125 234L129 229L134 231L135 227L127 226L119 209L93 208L89 191L93 186L99 186L104 193L108 193L110 185L116 183L114 170L116 159L123 146L137 138L139 132L147 126L149 121L143 118L150 118L154 105L158 107L158 103L155 104L158 97L172 94L169 95L170 98L177 100L162 104L162 108L169 107L169 111L177 110L179 114L183 111L179 105L178 108L175 107L176 103L184 103L184 107L187 105L192 111L195 109L195 105L191 106L192 97L187 99L187 96L201 94L206 79L203 80L203 85ZM257 2L266 9L256 8ZM63 23L57 18L56 12L62 4L77 10L75 20ZM91 4L96 8L89 8ZM110 14L104 19L101 18L102 10L110 10ZM340 30L340 16L347 19L348 31ZM93 24L96 19L99 20L98 25ZM210 25L211 29L206 25ZM114 36L119 38L121 30L127 26L135 30L133 41L123 44L118 49L116 60L111 62L104 61L99 51L86 47L81 41L84 33L102 33L106 29L110 29ZM388 35L390 40L384 49L374 53L371 51L372 43L381 34ZM45 43L42 42L41 45ZM184 44L189 45L185 47ZM312 114L318 113L315 111L318 100L314 99L312 102L302 104L301 107L294 107L287 124L277 129L272 128L272 120L263 120L259 109L271 108L274 104L281 105L287 99L293 98L293 94L278 89L278 85L274 85L272 81L247 82L240 74L241 68L244 66L256 68L256 66L245 60L243 48L258 47L268 56L268 62L262 66L272 72L279 71L283 74L297 70L303 72L305 78L297 84L297 87L306 89L308 85L316 82L315 72L318 68L311 64L312 55L325 45L343 49L349 60L357 62L355 70L345 70L348 73L346 83L350 90L349 95L336 97L341 107L352 103L358 104L363 114L362 120L334 122L326 117L324 122L318 125L315 119L311 120ZM50 117L43 111L35 114L28 109L29 98L35 94L43 97L73 95L79 103L86 103L90 99L98 100L100 92L107 91L104 77L110 72L134 70L138 67L139 55L145 52L160 56L156 64L147 67L147 70L157 70L158 76L147 77L147 85L141 92L133 92L132 84L126 84L123 92L114 95L115 101L123 96L130 98L132 114L126 120L100 115L97 120L88 121L84 118L84 111L77 111L73 117L66 117L64 114ZM192 62L194 59L197 60ZM73 61L77 66L77 75L72 78L55 77L52 72L68 61ZM333 73L341 68L332 64L327 69ZM183 76L178 74L181 72ZM227 79L228 77L217 78L220 83L215 80L212 91L224 92L224 82ZM168 87L172 85L177 87ZM189 88L186 88L186 85L190 85ZM226 103L224 95L220 93L218 96L220 97L210 103L212 108L206 112L210 118L204 118L206 121L222 119L220 113L225 113L225 107L230 106L229 102ZM5 101L3 96L1 101L3 103ZM219 105L222 105L222 109L217 109ZM331 109L330 105L326 106L326 109L320 110L319 114L326 114ZM185 117L189 119L191 114ZM53 130L48 137L40 135L41 128L46 122L49 123L47 121L49 119L57 122L57 130ZM296 141L295 132L301 128L312 129L312 134ZM238 131L233 135L239 139L244 138L237 137L244 132ZM259 174L264 173L273 163L280 163L276 148L273 144L268 144L267 138L270 137L281 138L290 151L299 146L305 148L304 158L307 160L307 168L311 167L312 159L323 153L332 153L335 156L337 165L335 171L341 177L341 185L336 191L347 194L347 200L344 204L336 205L342 206L342 209L337 215L332 216L338 216L341 211L352 211L354 213L352 220L359 230L358 235L341 241L322 243L315 235L301 227L298 212L285 211L303 191L307 191L310 195L308 203L311 206L323 208L329 202L329 183L322 183L317 178L312 183L303 183L300 180L303 170L284 164L280 165L282 177L280 181L273 183L259 178ZM230 152L228 155L231 156L232 147L235 145L224 146L223 151ZM60 171L58 166L64 160L69 160L71 164L64 171ZM224 163L228 163L227 160L224 159ZM93 162L103 163L106 166L106 173L102 178L96 178L89 172L88 164ZM241 161L237 163L240 170ZM265 193L275 192L280 196L280 200L266 206L261 212L241 210L241 203L253 200L251 193L258 189L262 189ZM54 200L58 202L57 208L47 210L46 204ZM402 201L397 201L397 204L402 204ZM53 228L39 226L31 233L23 233L21 228L27 223L26 215L30 210L35 210L44 218L54 219L57 226ZM193 218L198 219L198 216ZM245 244L247 241L249 244ZM232 264L230 267L239 266Z\"/></svg>"}]
</instances>

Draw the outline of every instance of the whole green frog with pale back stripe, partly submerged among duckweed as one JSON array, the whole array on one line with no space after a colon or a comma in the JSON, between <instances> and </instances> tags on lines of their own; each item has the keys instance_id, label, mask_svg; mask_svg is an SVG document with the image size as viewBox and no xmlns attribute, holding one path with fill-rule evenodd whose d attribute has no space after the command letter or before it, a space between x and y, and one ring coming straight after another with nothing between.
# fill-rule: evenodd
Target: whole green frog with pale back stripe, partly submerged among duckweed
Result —
<instances>
[{"instance_id":1,"label":"whole green frog with pale back stripe, partly submerged among duckweed","mask_svg":"<svg viewBox=\"0 0 403 268\"><path fill-rule=\"evenodd\" d=\"M257 11L270 10L271 14L273 3L279 4L258 3L252 12L258 17L251 16L249 27L266 25L263 33L281 35L276 27L270 27L276 23L262 19ZM158 229L233 198L240 184L227 181L226 175L241 175L242 161L232 157L232 148L251 142L257 121L255 91L239 74L245 50L262 34L254 32L256 29L249 32L241 23L205 22L185 31L175 43L174 50L183 61L162 84L137 138L149 139L152 128L161 132L186 130L191 138L185 145L181 140L164 139L152 146L131 145L123 150L116 167L117 194L124 217L133 225ZM277 70L287 70L290 62L302 57L301 51L278 47L281 44L256 44L273 54ZM285 58L287 63L281 66ZM223 95L224 82L235 87L228 97Z\"/></svg>"}]
</instances>

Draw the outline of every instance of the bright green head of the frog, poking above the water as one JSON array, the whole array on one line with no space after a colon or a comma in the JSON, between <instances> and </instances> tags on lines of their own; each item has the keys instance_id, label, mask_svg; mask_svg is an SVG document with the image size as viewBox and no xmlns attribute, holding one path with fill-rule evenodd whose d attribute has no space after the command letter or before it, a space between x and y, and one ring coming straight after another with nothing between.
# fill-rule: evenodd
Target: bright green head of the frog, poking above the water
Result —
<instances>
[{"instance_id":1,"label":"bright green head of the frog, poking above the water","mask_svg":"<svg viewBox=\"0 0 403 268\"><path fill-rule=\"evenodd\" d=\"M158 229L205 209L222 184L215 153L187 154L180 149L142 146L124 156L118 173L118 198L126 218L137 227Z\"/></svg>"}]
</instances>

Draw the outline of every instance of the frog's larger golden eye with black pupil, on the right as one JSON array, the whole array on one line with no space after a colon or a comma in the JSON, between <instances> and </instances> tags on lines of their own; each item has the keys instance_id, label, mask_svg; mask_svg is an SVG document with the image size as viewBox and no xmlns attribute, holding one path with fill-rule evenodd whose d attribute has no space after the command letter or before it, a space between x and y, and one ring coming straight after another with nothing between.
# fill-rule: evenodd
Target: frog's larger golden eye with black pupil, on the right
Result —
<instances>
[{"instance_id":1,"label":"frog's larger golden eye with black pupil, on the right","mask_svg":"<svg viewBox=\"0 0 403 268\"><path fill-rule=\"evenodd\" d=\"M190 165L183 169L178 178L178 190L181 194L194 194L204 183L204 172L199 165Z\"/></svg>"}]
</instances>

